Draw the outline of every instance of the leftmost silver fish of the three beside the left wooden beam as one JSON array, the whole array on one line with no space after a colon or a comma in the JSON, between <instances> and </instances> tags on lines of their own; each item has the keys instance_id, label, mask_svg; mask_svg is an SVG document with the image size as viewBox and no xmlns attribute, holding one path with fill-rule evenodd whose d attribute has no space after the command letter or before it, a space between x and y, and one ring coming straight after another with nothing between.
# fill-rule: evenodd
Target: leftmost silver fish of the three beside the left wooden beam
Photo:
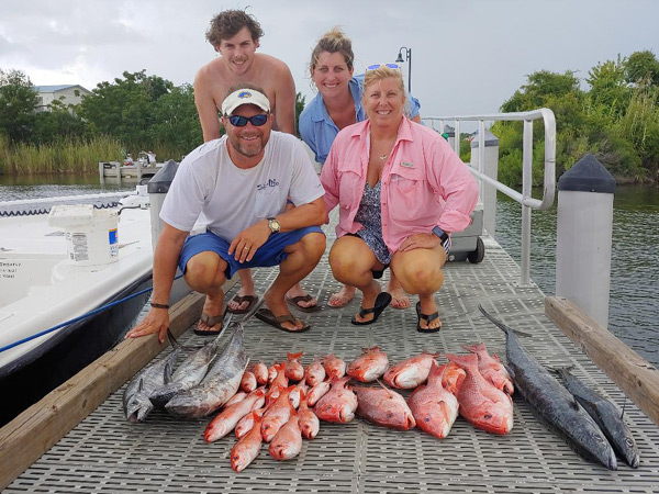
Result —
<instances>
[{"instance_id":1,"label":"leftmost silver fish of the three beside the left wooden beam","mask_svg":"<svg viewBox=\"0 0 659 494\"><path fill-rule=\"evenodd\" d=\"M175 348L164 359L145 367L129 383L123 396L124 414L129 422L144 422L154 409L150 395L156 389L169 382L180 351L180 347Z\"/></svg>"}]
</instances>

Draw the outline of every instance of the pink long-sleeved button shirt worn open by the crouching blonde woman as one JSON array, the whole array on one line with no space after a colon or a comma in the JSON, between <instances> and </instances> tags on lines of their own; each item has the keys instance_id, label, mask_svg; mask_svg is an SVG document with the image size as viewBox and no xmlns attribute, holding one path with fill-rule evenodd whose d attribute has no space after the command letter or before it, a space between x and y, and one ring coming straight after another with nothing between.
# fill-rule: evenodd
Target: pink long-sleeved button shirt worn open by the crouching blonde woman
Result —
<instances>
[{"instance_id":1,"label":"pink long-sleeved button shirt worn open by the crouching blonde woman","mask_svg":"<svg viewBox=\"0 0 659 494\"><path fill-rule=\"evenodd\" d=\"M336 235L357 233L370 149L370 122L345 127L336 136L321 172L327 213L340 206ZM381 177L382 238L391 252L417 233L439 226L465 229L478 201L467 165L436 131L403 117Z\"/></svg>"}]
</instances>

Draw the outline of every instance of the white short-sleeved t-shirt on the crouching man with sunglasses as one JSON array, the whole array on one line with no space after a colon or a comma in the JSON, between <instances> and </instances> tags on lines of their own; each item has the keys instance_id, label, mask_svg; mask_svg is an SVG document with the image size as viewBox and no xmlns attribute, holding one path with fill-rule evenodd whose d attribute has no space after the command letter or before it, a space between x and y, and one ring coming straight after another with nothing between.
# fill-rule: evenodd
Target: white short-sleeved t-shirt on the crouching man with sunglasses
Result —
<instances>
[{"instance_id":1,"label":"white short-sleeved t-shirt on the crouching man with sunglasses","mask_svg":"<svg viewBox=\"0 0 659 494\"><path fill-rule=\"evenodd\" d=\"M226 136L202 144L181 161L163 203L160 217L183 232L197 220L227 242L261 220L325 193L309 155L293 135L272 132L261 161L236 167Z\"/></svg>"}]
</instances>

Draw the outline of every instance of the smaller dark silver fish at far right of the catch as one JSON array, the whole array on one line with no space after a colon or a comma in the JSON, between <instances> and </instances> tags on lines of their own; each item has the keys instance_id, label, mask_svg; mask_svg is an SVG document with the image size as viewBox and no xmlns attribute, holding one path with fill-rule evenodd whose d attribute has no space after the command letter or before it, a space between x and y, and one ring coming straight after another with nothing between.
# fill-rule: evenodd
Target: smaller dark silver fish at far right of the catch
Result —
<instances>
[{"instance_id":1,"label":"smaller dark silver fish at far right of the catch","mask_svg":"<svg viewBox=\"0 0 659 494\"><path fill-rule=\"evenodd\" d=\"M632 430L623 420L621 411L608 400L592 390L570 372L571 367L555 369L567 390L589 413L613 446L613 449L633 469L638 468L639 453Z\"/></svg>"}]
</instances>

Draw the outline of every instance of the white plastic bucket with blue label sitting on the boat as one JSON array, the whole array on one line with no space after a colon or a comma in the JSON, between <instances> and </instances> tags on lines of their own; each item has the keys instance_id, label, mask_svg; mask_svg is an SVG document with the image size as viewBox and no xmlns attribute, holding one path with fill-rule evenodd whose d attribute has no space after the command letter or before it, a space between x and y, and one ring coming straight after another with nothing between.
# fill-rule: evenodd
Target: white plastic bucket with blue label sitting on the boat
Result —
<instances>
[{"instance_id":1,"label":"white plastic bucket with blue label sitting on the boat","mask_svg":"<svg viewBox=\"0 0 659 494\"><path fill-rule=\"evenodd\" d=\"M98 210L91 204L56 205L48 214L48 224L65 231L70 263L98 266L119 260L116 210Z\"/></svg>"}]
</instances>

